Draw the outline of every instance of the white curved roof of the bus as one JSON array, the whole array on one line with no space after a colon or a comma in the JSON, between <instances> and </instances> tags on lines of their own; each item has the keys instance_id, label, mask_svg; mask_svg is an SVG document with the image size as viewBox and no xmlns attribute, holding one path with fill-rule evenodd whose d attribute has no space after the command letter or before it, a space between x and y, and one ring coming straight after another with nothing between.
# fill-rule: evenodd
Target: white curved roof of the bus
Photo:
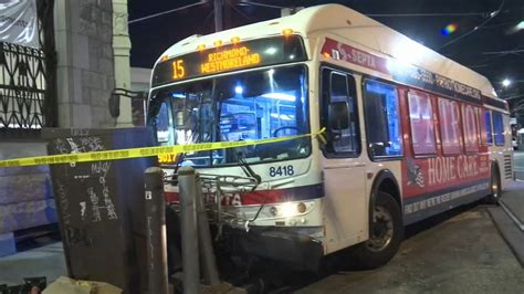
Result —
<instances>
[{"instance_id":1,"label":"white curved roof of the bus","mask_svg":"<svg viewBox=\"0 0 524 294\"><path fill-rule=\"evenodd\" d=\"M208 35L192 35L170 46L163 56L176 56L193 52L200 44L212 48L214 41L220 40L228 43L233 36L239 36L241 40L252 40L280 35L285 29L292 29L293 32L305 38L312 34L331 32L366 48L370 53L408 62L480 90L482 95L496 98L496 93L485 76L415 42L378 21L340 4L310 7L293 15Z\"/></svg>"}]
</instances>

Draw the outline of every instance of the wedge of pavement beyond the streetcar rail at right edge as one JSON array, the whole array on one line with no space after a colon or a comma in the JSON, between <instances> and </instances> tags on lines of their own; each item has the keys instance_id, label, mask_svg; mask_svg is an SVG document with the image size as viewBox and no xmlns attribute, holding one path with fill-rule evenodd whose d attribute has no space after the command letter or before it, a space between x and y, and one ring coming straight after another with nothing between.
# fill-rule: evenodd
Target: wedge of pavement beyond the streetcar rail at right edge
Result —
<instances>
[{"instance_id":1,"label":"wedge of pavement beyond the streetcar rail at right edge","mask_svg":"<svg viewBox=\"0 0 524 294\"><path fill-rule=\"evenodd\" d=\"M524 181L512 182L502 192L501 206L488 208L488 211L524 266Z\"/></svg>"}]
</instances>

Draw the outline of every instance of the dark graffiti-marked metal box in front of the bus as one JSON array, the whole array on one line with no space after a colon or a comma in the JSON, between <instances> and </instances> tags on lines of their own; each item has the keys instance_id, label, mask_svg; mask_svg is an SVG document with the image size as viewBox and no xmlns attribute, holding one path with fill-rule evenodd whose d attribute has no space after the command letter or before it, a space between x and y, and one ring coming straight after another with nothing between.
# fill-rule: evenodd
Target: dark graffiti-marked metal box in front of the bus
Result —
<instances>
[{"instance_id":1,"label":"dark graffiti-marked metal box in front of the bus","mask_svg":"<svg viewBox=\"0 0 524 294\"><path fill-rule=\"evenodd\" d=\"M50 155L155 145L149 128L43 129ZM52 165L69 275L147 288L144 170L156 157Z\"/></svg>"}]
</instances>

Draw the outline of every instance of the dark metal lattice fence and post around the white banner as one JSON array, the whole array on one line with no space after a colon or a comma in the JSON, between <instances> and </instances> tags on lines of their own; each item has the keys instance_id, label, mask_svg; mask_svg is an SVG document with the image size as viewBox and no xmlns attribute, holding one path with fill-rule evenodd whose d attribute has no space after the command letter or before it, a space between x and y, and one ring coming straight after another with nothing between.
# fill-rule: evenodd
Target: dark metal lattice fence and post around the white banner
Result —
<instances>
[{"instance_id":1,"label":"dark metal lattice fence and post around the white banner","mask_svg":"<svg viewBox=\"0 0 524 294\"><path fill-rule=\"evenodd\" d=\"M53 8L36 1L40 49L0 42L0 134L56 126Z\"/></svg>"}]
</instances>

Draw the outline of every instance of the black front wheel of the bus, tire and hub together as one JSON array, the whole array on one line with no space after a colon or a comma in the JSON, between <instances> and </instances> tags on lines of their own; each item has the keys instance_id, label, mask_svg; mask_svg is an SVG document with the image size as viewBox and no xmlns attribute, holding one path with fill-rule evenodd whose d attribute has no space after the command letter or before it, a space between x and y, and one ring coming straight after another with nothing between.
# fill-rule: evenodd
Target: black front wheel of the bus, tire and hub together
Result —
<instances>
[{"instance_id":1,"label":"black front wheel of the bus, tire and hub together","mask_svg":"<svg viewBox=\"0 0 524 294\"><path fill-rule=\"evenodd\" d=\"M391 260L404 239L404 223L398 202L389 193L378 191L369 239L357 244L350 253L357 267L370 270Z\"/></svg>"}]
</instances>

